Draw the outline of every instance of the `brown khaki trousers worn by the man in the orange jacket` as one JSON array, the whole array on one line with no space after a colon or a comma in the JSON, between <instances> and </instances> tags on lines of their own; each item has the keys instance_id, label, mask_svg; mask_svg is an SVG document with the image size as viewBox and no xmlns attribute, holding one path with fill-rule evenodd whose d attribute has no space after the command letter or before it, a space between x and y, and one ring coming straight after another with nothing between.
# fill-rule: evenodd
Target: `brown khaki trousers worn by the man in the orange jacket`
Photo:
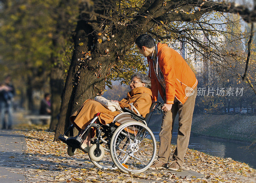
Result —
<instances>
[{"instance_id":1,"label":"brown khaki trousers worn by the man in the orange jacket","mask_svg":"<svg viewBox=\"0 0 256 183\"><path fill-rule=\"evenodd\" d=\"M184 104L175 98L174 104L172 104L172 109L168 112L164 112L162 126L159 132L160 147L158 151L158 160L164 163L167 163L170 158L173 123L177 113L179 113L177 147L172 155L172 158L176 160L180 166L182 166L184 163L184 156L188 148L191 131L197 87L194 90L194 95L189 96Z\"/></svg>"}]
</instances>

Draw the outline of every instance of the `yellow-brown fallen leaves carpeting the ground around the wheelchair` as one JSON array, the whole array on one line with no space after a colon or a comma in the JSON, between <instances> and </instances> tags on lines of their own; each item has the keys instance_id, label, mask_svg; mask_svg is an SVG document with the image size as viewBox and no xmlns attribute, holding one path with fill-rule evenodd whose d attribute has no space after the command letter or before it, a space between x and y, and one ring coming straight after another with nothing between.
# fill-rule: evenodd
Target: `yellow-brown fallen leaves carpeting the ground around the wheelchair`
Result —
<instances>
[{"instance_id":1,"label":"yellow-brown fallen leaves carpeting the ground around the wheelchair","mask_svg":"<svg viewBox=\"0 0 256 183\"><path fill-rule=\"evenodd\" d=\"M220 158L188 149L183 165L184 171L193 170L204 174L201 178L187 176L181 178L180 172L166 169L151 170L138 174L126 174L119 170L104 171L96 168L89 156L78 150L74 156L68 156L67 145L53 141L51 131L18 131L25 136L28 149L24 161L28 182L253 182L256 170L245 163L231 158ZM159 143L157 143L159 147ZM175 146L172 145L171 153ZM12 157L10 157L12 158ZM22 171L20 171L22 173ZM143 179L143 180L142 180Z\"/></svg>"}]
</instances>

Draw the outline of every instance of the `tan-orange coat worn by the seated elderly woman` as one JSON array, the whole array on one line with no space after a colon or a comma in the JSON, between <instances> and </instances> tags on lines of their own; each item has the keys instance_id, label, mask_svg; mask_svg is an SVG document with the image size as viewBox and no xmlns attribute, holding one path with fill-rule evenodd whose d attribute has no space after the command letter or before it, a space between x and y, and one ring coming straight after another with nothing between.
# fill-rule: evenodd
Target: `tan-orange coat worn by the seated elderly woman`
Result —
<instances>
[{"instance_id":1,"label":"tan-orange coat worn by the seated elderly woman","mask_svg":"<svg viewBox=\"0 0 256 183\"><path fill-rule=\"evenodd\" d=\"M149 113L151 106L152 92L149 88L136 87L131 92L127 93L127 98L119 101L121 108L127 107L131 109L129 103L132 103L134 107L145 117ZM94 100L86 100L84 104L70 116L70 121L80 131L85 129L92 119L100 112L98 119L101 124L111 123L114 117L120 114L117 111L111 112L99 102Z\"/></svg>"}]
</instances>

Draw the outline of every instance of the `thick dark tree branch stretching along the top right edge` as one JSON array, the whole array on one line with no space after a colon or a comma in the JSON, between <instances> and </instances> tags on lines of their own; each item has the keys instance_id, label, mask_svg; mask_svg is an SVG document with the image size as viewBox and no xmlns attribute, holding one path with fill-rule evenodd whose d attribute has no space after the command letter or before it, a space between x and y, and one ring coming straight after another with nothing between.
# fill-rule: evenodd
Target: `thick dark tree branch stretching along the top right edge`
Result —
<instances>
[{"instance_id":1,"label":"thick dark tree branch stretching along the top right edge","mask_svg":"<svg viewBox=\"0 0 256 183\"><path fill-rule=\"evenodd\" d=\"M159 6L159 4L158 4ZM175 12L174 10L185 10L186 7L193 6L199 8L198 11L192 14L188 11L189 14L186 12ZM154 10L159 9L154 5ZM178 9L177 9L178 8ZM168 11L172 11L169 12ZM165 22L171 21L191 21L191 20L198 20L204 13L211 12L211 11L218 11L218 12L229 12L229 13L238 13L246 22L255 22L256 21L256 11L250 11L244 5L240 5L237 3L228 3L228 2L212 2L212 1L180 1L180 0L172 0L168 1L166 6L161 7L161 11L158 11L157 14L151 14L149 12L144 12L143 16L152 16L151 21L160 20ZM154 12L153 12L154 13ZM139 14L141 15L141 14ZM138 19L138 18L137 18Z\"/></svg>"}]
</instances>

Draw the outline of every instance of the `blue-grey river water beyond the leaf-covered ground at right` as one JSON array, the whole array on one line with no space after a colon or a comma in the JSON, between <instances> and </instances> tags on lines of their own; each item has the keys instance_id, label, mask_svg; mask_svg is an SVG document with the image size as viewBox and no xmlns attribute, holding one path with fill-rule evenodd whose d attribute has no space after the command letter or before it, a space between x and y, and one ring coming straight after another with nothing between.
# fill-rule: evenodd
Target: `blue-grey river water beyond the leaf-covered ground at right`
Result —
<instances>
[{"instance_id":1,"label":"blue-grey river water beyond the leaf-covered ground at right","mask_svg":"<svg viewBox=\"0 0 256 183\"><path fill-rule=\"evenodd\" d=\"M159 132L153 132L156 141L159 141ZM173 131L172 144L177 144L177 132ZM256 169L256 152L248 153L248 150L243 148L248 146L247 143L237 142L225 139L216 139L209 137L198 137L190 135L188 148L204 152L209 155L222 158L232 158L233 160L248 163L250 167Z\"/></svg>"}]
</instances>

